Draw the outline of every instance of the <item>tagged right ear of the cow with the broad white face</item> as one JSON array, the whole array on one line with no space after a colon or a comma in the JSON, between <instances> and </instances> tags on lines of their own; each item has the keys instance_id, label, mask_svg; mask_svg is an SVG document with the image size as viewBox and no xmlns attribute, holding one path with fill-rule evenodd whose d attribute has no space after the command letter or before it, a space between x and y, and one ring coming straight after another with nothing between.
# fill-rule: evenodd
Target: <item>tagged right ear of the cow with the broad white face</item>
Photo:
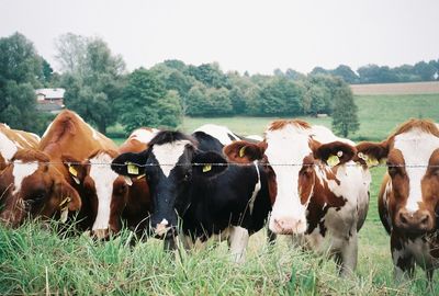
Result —
<instances>
[{"instance_id":1,"label":"tagged right ear of the cow with the broad white face","mask_svg":"<svg viewBox=\"0 0 439 296\"><path fill-rule=\"evenodd\" d=\"M356 156L357 151L356 147L342 141L333 141L327 144L315 141L313 148L314 158L320 159L330 167L348 162Z\"/></svg>"}]
</instances>

